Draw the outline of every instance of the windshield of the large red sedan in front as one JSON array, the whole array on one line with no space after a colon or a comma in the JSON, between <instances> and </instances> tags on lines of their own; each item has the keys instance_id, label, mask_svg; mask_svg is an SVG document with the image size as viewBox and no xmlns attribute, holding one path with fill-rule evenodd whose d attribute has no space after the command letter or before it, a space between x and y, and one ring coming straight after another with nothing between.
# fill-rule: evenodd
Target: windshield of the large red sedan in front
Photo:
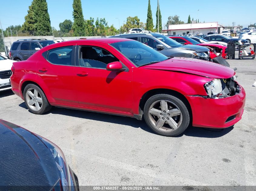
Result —
<instances>
[{"instance_id":1,"label":"windshield of the large red sedan in front","mask_svg":"<svg viewBox=\"0 0 256 191\"><path fill-rule=\"evenodd\" d=\"M111 46L116 48L136 66L153 64L168 59L167 56L135 40L111 43Z\"/></svg>"}]
</instances>

